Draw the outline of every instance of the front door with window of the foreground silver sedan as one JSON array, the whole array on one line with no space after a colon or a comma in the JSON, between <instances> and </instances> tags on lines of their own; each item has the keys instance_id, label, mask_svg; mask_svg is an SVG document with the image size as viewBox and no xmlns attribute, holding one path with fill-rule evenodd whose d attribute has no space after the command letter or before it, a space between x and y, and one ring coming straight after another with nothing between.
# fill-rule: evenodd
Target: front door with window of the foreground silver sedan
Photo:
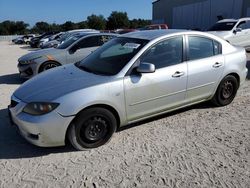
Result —
<instances>
[{"instance_id":1,"label":"front door with window of the foreground silver sedan","mask_svg":"<svg viewBox=\"0 0 250 188\"><path fill-rule=\"evenodd\" d=\"M124 78L128 121L160 113L183 104L187 64L183 62L183 38L165 39L147 50L138 62L152 63L154 73L132 73Z\"/></svg>"}]
</instances>

